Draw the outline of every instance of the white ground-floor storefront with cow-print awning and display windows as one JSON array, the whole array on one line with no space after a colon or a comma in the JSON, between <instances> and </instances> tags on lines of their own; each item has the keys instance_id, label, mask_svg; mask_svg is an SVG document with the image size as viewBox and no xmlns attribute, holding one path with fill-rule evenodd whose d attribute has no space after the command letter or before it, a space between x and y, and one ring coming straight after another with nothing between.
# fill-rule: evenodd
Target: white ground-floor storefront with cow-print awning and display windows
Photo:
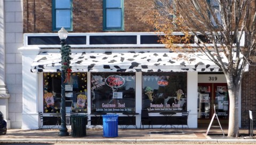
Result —
<instances>
[{"instance_id":1,"label":"white ground-floor storefront with cow-print awning and display windows","mask_svg":"<svg viewBox=\"0 0 256 145\"><path fill-rule=\"evenodd\" d=\"M76 37L76 33L69 33ZM92 35L92 36L91 36ZM105 33L97 33L98 36ZM114 39L122 39L127 35L141 40L144 36L155 37L154 33L111 33ZM38 115L42 111L44 120L56 125L60 113L60 53L59 45L40 45L43 39L58 37L51 34L25 34L25 47L22 52L23 129L37 129ZM87 114L92 126L99 125L99 113L118 114L119 125L130 124L129 118L123 113L138 113L133 116L133 128L141 124L142 109L147 109L152 118L153 127L161 127L166 122L162 112L175 112L175 127L182 112L189 111L188 125L196 128L198 124L207 124L213 114L213 106L218 105L216 112L222 123L228 120L228 90L226 79L221 70L213 62L200 53L186 54L170 52L161 44L145 44L149 48L107 48L109 45L97 44L102 48L88 49L95 34L83 33L79 36L88 40L80 47L72 46L72 72L65 83L67 118L72 113ZM77 39L76 39L77 40ZM35 45L34 43L38 43ZM152 41L151 41L152 42ZM80 42L81 44L82 42ZM33 45L31 45L33 44ZM122 44L129 46L129 44ZM117 45L117 46L120 46ZM75 48L73 48L75 47ZM113 46L112 46L113 47ZM158 47L158 48L157 48ZM189 60L179 58L189 55ZM200 57L199 57L200 56ZM218 95L213 95L213 92ZM33 92L33 93L32 93ZM36 92L36 93L34 93ZM35 97L37 96L37 97ZM214 101L212 101L214 100ZM27 118L31 118L27 120ZM127 122L128 121L128 122ZM226 122L225 122L226 121ZM67 119L67 122L68 119ZM92 127L91 126L91 127ZM120 126L121 127L121 126Z\"/></svg>"}]
</instances>

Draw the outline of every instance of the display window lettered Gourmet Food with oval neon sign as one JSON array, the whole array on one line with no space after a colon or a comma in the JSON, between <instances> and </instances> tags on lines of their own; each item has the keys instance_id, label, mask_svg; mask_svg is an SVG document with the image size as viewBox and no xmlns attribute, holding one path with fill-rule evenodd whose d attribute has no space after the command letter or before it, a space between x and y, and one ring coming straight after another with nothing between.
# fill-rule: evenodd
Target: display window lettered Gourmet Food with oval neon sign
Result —
<instances>
[{"instance_id":1,"label":"display window lettered Gourmet Food with oval neon sign","mask_svg":"<svg viewBox=\"0 0 256 145\"><path fill-rule=\"evenodd\" d=\"M135 112L135 73L91 73L91 113Z\"/></svg>"}]
</instances>

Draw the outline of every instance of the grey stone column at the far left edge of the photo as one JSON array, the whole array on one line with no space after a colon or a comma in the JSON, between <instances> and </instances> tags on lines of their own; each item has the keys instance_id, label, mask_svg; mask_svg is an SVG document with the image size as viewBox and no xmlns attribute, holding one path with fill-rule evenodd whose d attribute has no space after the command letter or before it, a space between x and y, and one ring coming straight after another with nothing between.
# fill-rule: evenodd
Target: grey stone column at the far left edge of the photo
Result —
<instances>
[{"instance_id":1,"label":"grey stone column at the far left edge of the photo","mask_svg":"<svg viewBox=\"0 0 256 145\"><path fill-rule=\"evenodd\" d=\"M9 120L9 98L10 94L5 84L5 27L4 27L4 1L0 0L0 110L7 122L7 129L10 129L11 122Z\"/></svg>"}]
</instances>

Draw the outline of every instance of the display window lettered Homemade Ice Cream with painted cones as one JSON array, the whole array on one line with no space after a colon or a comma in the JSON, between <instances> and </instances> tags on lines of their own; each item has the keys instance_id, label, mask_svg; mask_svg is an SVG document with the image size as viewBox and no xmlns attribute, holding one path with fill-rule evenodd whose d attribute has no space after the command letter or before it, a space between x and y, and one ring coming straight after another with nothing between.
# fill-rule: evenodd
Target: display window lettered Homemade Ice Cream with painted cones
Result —
<instances>
[{"instance_id":1,"label":"display window lettered Homemade Ice Cream with painted cones","mask_svg":"<svg viewBox=\"0 0 256 145\"><path fill-rule=\"evenodd\" d=\"M187 110L187 73L142 73L142 109L149 112Z\"/></svg>"}]
</instances>

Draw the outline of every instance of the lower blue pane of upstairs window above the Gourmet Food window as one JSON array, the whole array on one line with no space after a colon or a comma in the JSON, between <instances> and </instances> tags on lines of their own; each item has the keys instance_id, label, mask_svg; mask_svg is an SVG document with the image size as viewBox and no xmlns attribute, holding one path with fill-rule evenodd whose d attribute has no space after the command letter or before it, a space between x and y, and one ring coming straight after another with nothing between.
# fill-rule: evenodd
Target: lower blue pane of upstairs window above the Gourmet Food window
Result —
<instances>
[{"instance_id":1,"label":"lower blue pane of upstairs window above the Gourmet Food window","mask_svg":"<svg viewBox=\"0 0 256 145\"><path fill-rule=\"evenodd\" d=\"M106 12L107 27L121 27L121 8L108 9Z\"/></svg>"}]
</instances>

